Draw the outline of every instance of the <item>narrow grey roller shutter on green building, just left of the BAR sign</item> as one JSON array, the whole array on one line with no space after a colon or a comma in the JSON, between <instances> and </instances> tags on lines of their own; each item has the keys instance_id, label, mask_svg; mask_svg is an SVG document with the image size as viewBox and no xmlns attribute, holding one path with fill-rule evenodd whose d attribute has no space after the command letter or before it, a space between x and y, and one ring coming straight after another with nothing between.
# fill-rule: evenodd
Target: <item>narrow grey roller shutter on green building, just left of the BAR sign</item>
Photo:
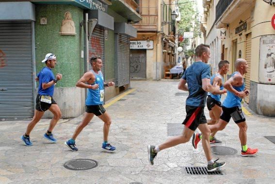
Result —
<instances>
[{"instance_id":1,"label":"narrow grey roller shutter on green building, just left of the BAR sign","mask_svg":"<svg viewBox=\"0 0 275 184\"><path fill-rule=\"evenodd\" d=\"M129 37L117 34L116 37L116 82L117 86L123 86L130 83L130 41Z\"/></svg>"}]
</instances>

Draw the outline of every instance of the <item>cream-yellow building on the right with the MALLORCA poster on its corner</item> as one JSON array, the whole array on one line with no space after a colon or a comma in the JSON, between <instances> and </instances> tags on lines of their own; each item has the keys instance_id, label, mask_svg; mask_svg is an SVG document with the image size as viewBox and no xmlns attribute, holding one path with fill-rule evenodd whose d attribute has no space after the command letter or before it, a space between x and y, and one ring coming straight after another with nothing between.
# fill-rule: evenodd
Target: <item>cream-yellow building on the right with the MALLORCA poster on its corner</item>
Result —
<instances>
[{"instance_id":1,"label":"cream-yellow building on the right with the MALLORCA poster on its corner","mask_svg":"<svg viewBox=\"0 0 275 184\"><path fill-rule=\"evenodd\" d=\"M275 116L275 6L263 0L206 0L211 14L215 15L217 36L222 38L219 47L221 59L234 62L244 58L249 66L244 75L250 90L244 102L250 109L265 116ZM211 9L215 5L215 10ZM208 35L206 35L207 39Z\"/></svg>"}]
</instances>

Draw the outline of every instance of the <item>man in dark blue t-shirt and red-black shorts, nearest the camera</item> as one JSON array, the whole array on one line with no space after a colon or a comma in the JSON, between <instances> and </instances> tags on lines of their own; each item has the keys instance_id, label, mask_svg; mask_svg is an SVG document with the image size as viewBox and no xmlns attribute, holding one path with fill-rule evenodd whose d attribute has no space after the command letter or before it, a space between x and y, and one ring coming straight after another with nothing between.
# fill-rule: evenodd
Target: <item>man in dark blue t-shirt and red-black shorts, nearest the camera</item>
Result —
<instances>
[{"instance_id":1,"label":"man in dark blue t-shirt and red-black shorts, nearest the camera","mask_svg":"<svg viewBox=\"0 0 275 184\"><path fill-rule=\"evenodd\" d=\"M195 57L195 63L186 69L178 84L178 89L189 91L189 96L186 99L187 115L183 121L185 125L183 133L166 140L159 146L148 145L148 160L151 165L154 164L154 158L159 151L188 142L196 128L199 128L204 135L203 148L208 161L208 171L214 171L226 164L225 162L218 163L217 160L212 160L209 142L210 129L204 115L207 92L223 94L226 91L220 90L219 86L215 86L216 84L213 84L213 86L210 84L210 66L206 64L210 58L210 47L205 44L197 46Z\"/></svg>"}]
</instances>

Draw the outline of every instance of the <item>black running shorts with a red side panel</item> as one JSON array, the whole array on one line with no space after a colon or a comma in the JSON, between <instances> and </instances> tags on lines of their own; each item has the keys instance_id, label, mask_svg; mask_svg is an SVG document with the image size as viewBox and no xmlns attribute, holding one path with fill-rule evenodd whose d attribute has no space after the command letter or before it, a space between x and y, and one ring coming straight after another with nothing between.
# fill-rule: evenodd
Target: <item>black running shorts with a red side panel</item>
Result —
<instances>
[{"instance_id":1,"label":"black running shorts with a red side panel","mask_svg":"<svg viewBox=\"0 0 275 184\"><path fill-rule=\"evenodd\" d=\"M186 118L183 123L190 130L195 131L199 124L207 123L204 115L204 107L186 105Z\"/></svg>"}]
</instances>

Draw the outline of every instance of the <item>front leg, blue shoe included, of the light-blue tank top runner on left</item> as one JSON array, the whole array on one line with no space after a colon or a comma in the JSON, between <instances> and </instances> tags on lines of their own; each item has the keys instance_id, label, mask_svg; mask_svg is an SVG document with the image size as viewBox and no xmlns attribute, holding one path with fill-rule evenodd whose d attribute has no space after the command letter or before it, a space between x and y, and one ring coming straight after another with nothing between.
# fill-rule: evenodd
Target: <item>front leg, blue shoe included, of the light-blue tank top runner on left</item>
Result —
<instances>
[{"instance_id":1,"label":"front leg, blue shoe included, of the light-blue tank top runner on left","mask_svg":"<svg viewBox=\"0 0 275 184\"><path fill-rule=\"evenodd\" d=\"M113 152L115 151L116 148L110 145L110 143L108 143L108 135L109 135L110 125L112 123L111 117L107 112L105 112L103 115L100 115L98 117L104 122L103 143L102 143L101 149L106 152Z\"/></svg>"}]
</instances>

